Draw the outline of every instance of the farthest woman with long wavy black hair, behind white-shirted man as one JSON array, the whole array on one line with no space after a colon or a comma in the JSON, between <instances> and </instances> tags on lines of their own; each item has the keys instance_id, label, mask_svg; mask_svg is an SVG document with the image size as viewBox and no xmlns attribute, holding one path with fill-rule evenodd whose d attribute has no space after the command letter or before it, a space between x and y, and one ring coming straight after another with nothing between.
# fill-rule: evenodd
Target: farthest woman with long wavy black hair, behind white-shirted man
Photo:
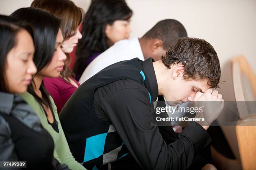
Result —
<instances>
[{"instance_id":1,"label":"farthest woman with long wavy black hair, behind white-shirted man","mask_svg":"<svg viewBox=\"0 0 256 170\"><path fill-rule=\"evenodd\" d=\"M77 45L77 59L73 68L79 80L95 57L115 42L128 39L132 10L125 0L93 0L82 27L82 39Z\"/></svg>"}]
</instances>

